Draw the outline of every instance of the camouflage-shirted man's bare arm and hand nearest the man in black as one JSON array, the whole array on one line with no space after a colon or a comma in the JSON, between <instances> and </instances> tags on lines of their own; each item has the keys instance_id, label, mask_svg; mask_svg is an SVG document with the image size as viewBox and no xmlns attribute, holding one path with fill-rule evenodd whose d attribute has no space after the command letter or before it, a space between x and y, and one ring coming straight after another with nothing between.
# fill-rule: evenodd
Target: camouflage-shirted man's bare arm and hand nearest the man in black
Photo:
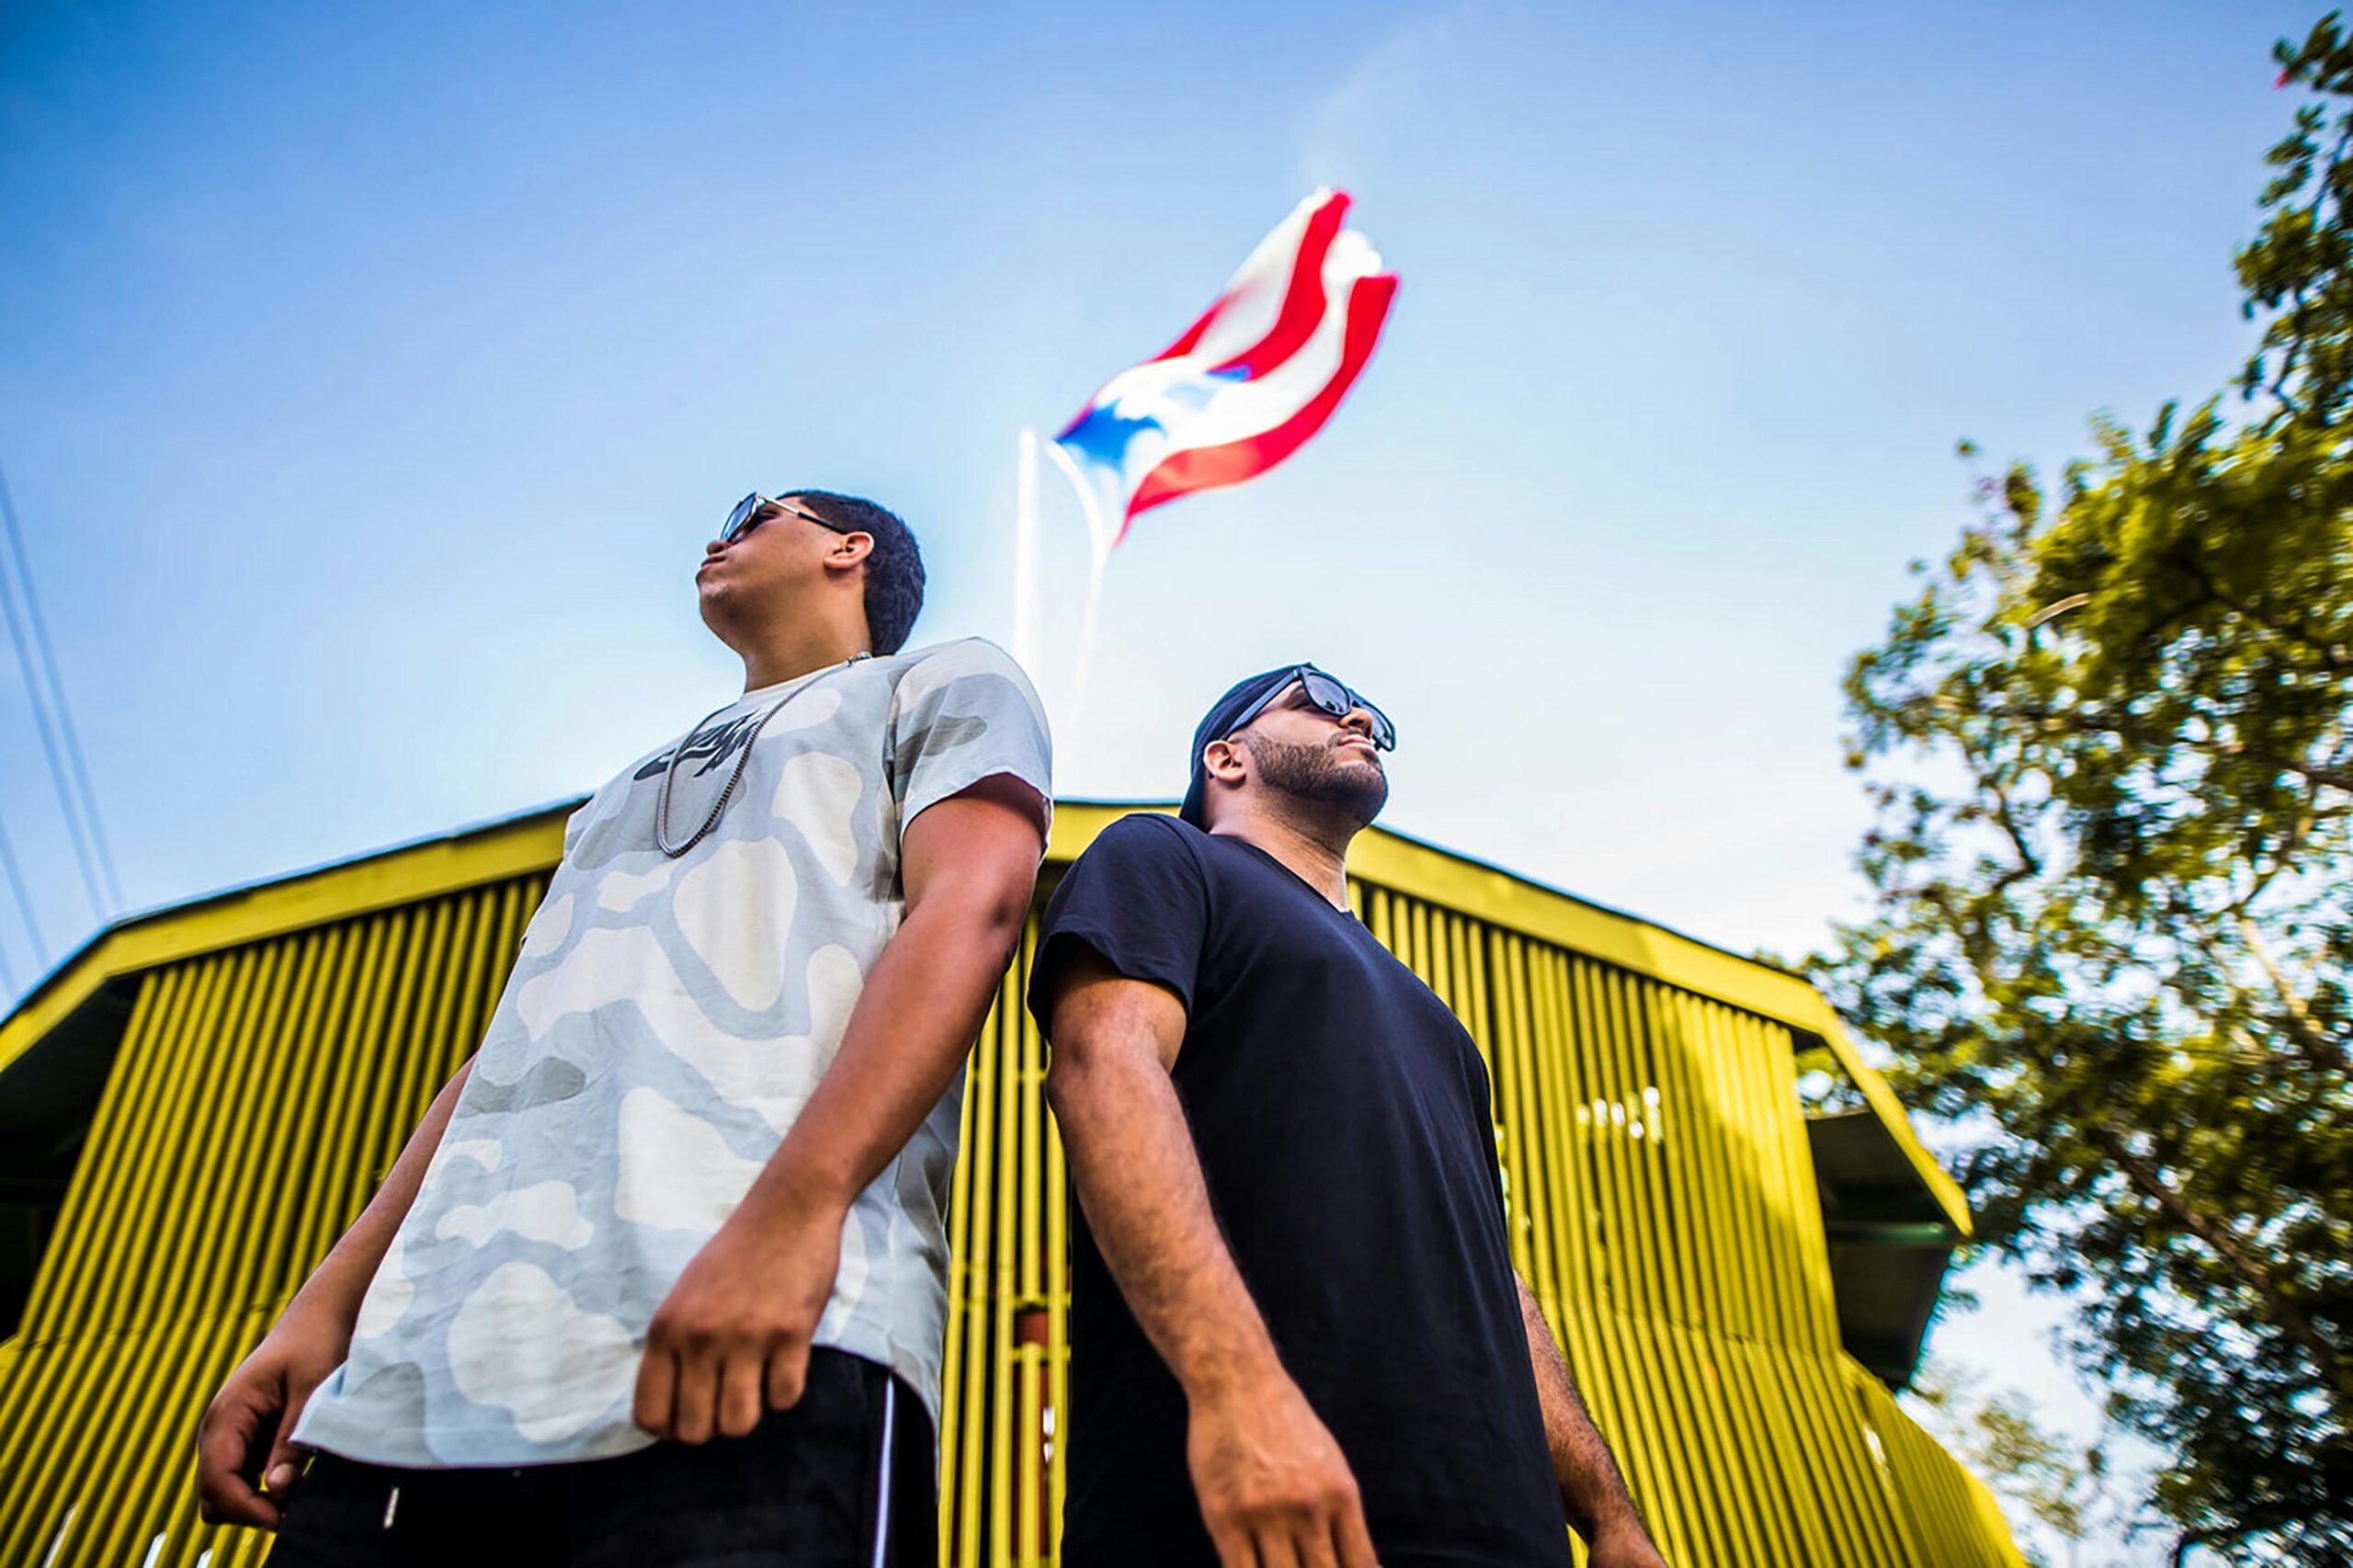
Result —
<instances>
[{"instance_id":1,"label":"camouflage-shirted man's bare arm and hand nearest the man in black","mask_svg":"<svg viewBox=\"0 0 2353 1568\"><path fill-rule=\"evenodd\" d=\"M906 918L793 1130L654 1311L633 1415L656 1436L741 1436L800 1401L849 1203L948 1092L1021 942L1040 800L1009 775L906 826Z\"/></svg>"}]
</instances>

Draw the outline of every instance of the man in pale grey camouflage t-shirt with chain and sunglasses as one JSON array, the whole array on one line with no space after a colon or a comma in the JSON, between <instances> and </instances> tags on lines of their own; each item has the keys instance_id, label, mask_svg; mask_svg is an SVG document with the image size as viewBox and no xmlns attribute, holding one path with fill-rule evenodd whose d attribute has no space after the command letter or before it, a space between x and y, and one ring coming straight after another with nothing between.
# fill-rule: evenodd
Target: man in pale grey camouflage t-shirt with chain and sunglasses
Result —
<instances>
[{"instance_id":1,"label":"man in pale grey camouflage t-shirt with chain and sunglasses","mask_svg":"<svg viewBox=\"0 0 2353 1568\"><path fill-rule=\"evenodd\" d=\"M746 497L696 584L744 697L574 812L480 1050L207 1413L207 1511L285 1509L278 1563L929 1559L1045 716L984 640L896 652L922 567L866 501Z\"/></svg>"}]
</instances>

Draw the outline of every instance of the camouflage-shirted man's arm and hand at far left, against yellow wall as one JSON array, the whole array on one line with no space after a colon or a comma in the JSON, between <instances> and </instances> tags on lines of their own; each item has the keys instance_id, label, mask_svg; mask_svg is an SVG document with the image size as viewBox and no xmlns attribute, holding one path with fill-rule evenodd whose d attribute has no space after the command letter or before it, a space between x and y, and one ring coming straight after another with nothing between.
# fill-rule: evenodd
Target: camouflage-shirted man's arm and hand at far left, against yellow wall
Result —
<instances>
[{"instance_id":1,"label":"camouflage-shirted man's arm and hand at far left, against yellow wall","mask_svg":"<svg viewBox=\"0 0 2353 1568\"><path fill-rule=\"evenodd\" d=\"M301 1474L301 1453L287 1439L311 1391L344 1366L367 1283L409 1217L471 1071L473 1057L466 1057L426 1107L384 1187L205 1408L195 1427L195 1504L209 1523L278 1528L278 1504ZM259 1490L264 1479L268 1495Z\"/></svg>"}]
</instances>

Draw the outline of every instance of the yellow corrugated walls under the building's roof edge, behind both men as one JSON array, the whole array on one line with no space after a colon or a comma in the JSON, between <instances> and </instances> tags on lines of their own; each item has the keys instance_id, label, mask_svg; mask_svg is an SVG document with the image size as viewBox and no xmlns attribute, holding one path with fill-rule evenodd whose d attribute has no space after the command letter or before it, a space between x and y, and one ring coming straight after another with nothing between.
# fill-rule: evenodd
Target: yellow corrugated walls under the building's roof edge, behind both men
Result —
<instances>
[{"instance_id":1,"label":"yellow corrugated walls under the building's roof edge, behind both men","mask_svg":"<svg viewBox=\"0 0 2353 1568\"><path fill-rule=\"evenodd\" d=\"M254 1563L188 1486L205 1398L473 1048L544 876L139 977L56 1238L0 1347L0 1563ZM2014 1566L1991 1495L1838 1347L1786 1026L1355 883L1497 1085L1513 1262L1668 1559ZM941 1556L1052 1563L1066 1198L1007 977L955 1170Z\"/></svg>"}]
</instances>

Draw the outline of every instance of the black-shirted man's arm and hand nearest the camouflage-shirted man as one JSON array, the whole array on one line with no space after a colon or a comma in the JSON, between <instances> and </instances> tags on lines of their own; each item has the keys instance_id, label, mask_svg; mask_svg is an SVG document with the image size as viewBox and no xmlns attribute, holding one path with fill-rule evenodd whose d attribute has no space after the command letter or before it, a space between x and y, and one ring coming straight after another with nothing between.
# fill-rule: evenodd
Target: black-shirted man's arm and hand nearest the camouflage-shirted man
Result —
<instances>
[{"instance_id":1,"label":"black-shirted man's arm and hand nearest the camouflage-shirted man","mask_svg":"<svg viewBox=\"0 0 2353 1568\"><path fill-rule=\"evenodd\" d=\"M1348 1460L1282 1370L1226 1248L1169 1083L1184 1003L1075 954L1045 1092L1087 1229L1191 1406L1193 1490L1226 1568L1372 1568Z\"/></svg>"}]
</instances>

